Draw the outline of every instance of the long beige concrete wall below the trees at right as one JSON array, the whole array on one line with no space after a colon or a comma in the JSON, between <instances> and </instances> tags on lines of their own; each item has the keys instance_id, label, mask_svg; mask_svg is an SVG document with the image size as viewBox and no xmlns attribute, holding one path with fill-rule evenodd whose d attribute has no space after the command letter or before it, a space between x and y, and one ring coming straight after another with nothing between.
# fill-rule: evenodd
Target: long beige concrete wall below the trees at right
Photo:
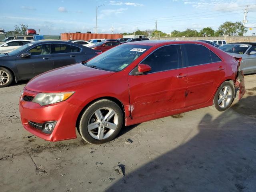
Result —
<instances>
[{"instance_id":1,"label":"long beige concrete wall below the trees at right","mask_svg":"<svg viewBox=\"0 0 256 192\"><path fill-rule=\"evenodd\" d=\"M180 41L194 41L194 40L210 40L210 39L224 39L227 43L235 42L256 42L256 36L235 36L235 37L166 37L160 40L180 40ZM151 38L154 40L154 38Z\"/></svg>"}]
</instances>

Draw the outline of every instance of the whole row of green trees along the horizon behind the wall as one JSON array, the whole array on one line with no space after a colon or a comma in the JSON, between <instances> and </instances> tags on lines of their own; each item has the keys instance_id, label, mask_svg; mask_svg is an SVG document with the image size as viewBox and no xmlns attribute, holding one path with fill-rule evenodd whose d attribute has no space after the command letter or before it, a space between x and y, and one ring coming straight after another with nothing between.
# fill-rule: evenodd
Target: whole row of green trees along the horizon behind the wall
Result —
<instances>
[{"instance_id":1,"label":"whole row of green trees along the horizon behind the wall","mask_svg":"<svg viewBox=\"0 0 256 192\"><path fill-rule=\"evenodd\" d=\"M193 29L186 29L184 31L174 30L170 34L164 33L160 30L137 30L132 33L122 33L122 35L145 35L146 37L203 37L203 36L243 36L244 33L247 32L246 27L242 24L242 22L224 22L218 28L218 30L214 31L211 27L205 27L199 32Z\"/></svg>"}]
</instances>

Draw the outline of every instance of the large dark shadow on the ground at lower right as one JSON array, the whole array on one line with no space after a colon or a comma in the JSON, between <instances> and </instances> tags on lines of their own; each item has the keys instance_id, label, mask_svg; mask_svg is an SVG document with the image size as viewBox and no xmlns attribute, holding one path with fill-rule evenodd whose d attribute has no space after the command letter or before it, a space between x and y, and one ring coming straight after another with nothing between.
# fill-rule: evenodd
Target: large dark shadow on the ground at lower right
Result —
<instances>
[{"instance_id":1,"label":"large dark shadow on the ground at lower right","mask_svg":"<svg viewBox=\"0 0 256 192\"><path fill-rule=\"evenodd\" d=\"M255 102L255 95L248 96L216 118L205 114L198 134L135 171L126 170L106 191L255 192Z\"/></svg>"}]
</instances>

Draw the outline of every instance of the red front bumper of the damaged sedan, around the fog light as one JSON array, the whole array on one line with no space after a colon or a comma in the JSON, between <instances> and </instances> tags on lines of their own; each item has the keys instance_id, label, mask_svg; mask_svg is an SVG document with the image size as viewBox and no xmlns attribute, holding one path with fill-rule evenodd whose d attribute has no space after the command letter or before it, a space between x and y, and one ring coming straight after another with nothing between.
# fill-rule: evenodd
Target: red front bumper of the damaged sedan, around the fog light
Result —
<instances>
[{"instance_id":1,"label":"red front bumper of the damaged sedan, around the fog light","mask_svg":"<svg viewBox=\"0 0 256 192\"><path fill-rule=\"evenodd\" d=\"M38 92L24 89L23 96L36 96ZM40 106L37 103L25 102L20 97L19 104L22 125L30 133L48 141L60 141L76 138L76 120L82 108L66 101ZM48 121L57 121L51 134L31 126L28 121L43 124Z\"/></svg>"}]
</instances>

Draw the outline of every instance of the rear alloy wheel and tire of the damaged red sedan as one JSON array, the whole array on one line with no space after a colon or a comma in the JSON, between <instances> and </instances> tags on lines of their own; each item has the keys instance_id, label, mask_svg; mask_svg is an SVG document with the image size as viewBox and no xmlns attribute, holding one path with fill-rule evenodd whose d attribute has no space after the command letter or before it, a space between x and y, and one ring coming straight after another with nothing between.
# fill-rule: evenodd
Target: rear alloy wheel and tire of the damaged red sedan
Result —
<instances>
[{"instance_id":1,"label":"rear alloy wheel and tire of the damaged red sedan","mask_svg":"<svg viewBox=\"0 0 256 192\"><path fill-rule=\"evenodd\" d=\"M234 85L230 82L223 82L213 98L213 107L218 111L227 110L234 100Z\"/></svg>"}]
</instances>

